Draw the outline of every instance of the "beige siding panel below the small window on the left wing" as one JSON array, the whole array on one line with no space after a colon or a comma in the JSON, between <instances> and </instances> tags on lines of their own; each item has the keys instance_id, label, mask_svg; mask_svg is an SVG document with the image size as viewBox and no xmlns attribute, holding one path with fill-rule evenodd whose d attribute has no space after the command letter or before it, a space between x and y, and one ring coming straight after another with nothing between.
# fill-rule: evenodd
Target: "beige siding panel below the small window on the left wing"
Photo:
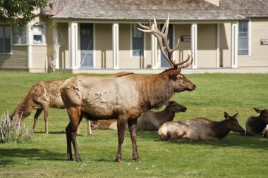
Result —
<instances>
[{"instance_id":1,"label":"beige siding panel below the small window on the left wing","mask_svg":"<svg viewBox=\"0 0 268 178\"><path fill-rule=\"evenodd\" d=\"M42 69L45 68L45 61L47 56L47 46L32 46L32 68Z\"/></svg>"}]
</instances>

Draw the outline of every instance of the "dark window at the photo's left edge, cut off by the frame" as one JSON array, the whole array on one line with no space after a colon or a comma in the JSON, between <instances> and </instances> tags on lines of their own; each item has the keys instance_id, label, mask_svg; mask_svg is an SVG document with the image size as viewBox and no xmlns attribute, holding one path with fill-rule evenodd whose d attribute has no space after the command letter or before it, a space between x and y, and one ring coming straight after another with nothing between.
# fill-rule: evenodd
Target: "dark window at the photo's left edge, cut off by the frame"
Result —
<instances>
[{"instance_id":1,"label":"dark window at the photo's left edge, cut off by the frame","mask_svg":"<svg viewBox=\"0 0 268 178\"><path fill-rule=\"evenodd\" d=\"M11 52L11 26L0 25L0 53Z\"/></svg>"}]
</instances>

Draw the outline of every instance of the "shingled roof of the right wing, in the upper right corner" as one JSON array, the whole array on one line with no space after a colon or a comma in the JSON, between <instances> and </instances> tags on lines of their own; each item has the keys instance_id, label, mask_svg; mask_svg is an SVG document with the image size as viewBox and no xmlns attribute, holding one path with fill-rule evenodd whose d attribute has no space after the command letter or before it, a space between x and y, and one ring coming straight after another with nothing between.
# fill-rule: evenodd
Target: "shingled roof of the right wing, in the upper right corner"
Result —
<instances>
[{"instance_id":1,"label":"shingled roof of the right wing, in the upper right corner","mask_svg":"<svg viewBox=\"0 0 268 178\"><path fill-rule=\"evenodd\" d=\"M220 0L219 6L248 18L268 17L267 0Z\"/></svg>"}]
</instances>

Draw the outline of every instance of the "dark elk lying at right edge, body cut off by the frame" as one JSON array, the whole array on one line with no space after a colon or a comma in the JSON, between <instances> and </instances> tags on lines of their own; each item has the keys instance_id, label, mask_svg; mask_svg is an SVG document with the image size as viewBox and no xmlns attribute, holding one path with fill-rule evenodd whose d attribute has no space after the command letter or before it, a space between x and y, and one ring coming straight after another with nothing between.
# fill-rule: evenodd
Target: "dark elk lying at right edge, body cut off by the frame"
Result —
<instances>
[{"instance_id":1,"label":"dark elk lying at right edge, body cut off by the frame","mask_svg":"<svg viewBox=\"0 0 268 178\"><path fill-rule=\"evenodd\" d=\"M268 110L254 108L260 115L248 117L245 124L246 134L249 136L268 137Z\"/></svg>"}]
</instances>

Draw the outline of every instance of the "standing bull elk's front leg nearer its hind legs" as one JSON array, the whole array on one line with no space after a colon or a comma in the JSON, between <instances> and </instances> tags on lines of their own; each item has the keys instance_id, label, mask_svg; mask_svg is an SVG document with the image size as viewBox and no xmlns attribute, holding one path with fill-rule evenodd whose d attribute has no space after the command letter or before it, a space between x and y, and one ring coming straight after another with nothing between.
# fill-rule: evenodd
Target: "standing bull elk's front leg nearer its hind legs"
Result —
<instances>
[{"instance_id":1,"label":"standing bull elk's front leg nearer its hind legs","mask_svg":"<svg viewBox=\"0 0 268 178\"><path fill-rule=\"evenodd\" d=\"M125 129L126 129L126 120L125 119L118 119L117 120L117 134L118 134L118 148L116 153L116 161L118 163L122 163L122 144L123 139L125 136Z\"/></svg>"}]
</instances>

